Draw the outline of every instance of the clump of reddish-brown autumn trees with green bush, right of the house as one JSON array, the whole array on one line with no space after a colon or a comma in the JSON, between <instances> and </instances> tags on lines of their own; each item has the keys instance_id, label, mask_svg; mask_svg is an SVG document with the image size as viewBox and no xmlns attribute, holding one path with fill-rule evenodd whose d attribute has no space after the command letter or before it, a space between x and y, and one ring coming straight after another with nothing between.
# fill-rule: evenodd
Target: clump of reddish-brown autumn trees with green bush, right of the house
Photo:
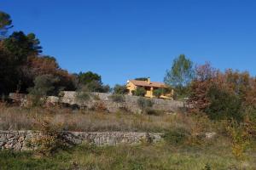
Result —
<instances>
[{"instance_id":1,"label":"clump of reddish-brown autumn trees with green bush, right of the house","mask_svg":"<svg viewBox=\"0 0 256 170\"><path fill-rule=\"evenodd\" d=\"M247 72L212 68L208 63L195 68L191 82L189 105L192 111L206 113L215 120L253 120L255 107L255 78ZM252 121L251 121L252 122Z\"/></svg>"}]
</instances>

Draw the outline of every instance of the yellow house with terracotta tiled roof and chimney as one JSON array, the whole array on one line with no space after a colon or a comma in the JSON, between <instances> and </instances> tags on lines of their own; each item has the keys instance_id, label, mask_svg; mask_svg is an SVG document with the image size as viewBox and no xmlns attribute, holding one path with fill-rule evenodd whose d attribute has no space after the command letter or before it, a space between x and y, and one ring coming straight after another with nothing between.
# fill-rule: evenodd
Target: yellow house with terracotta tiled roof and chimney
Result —
<instances>
[{"instance_id":1,"label":"yellow house with terracotta tiled roof and chimney","mask_svg":"<svg viewBox=\"0 0 256 170\"><path fill-rule=\"evenodd\" d=\"M154 98L153 91L158 88L168 88L165 83L162 82L150 82L150 78L148 80L128 80L126 83L126 89L130 95L132 95L132 91L136 90L137 88L145 88L146 94L145 97ZM173 89L172 92L169 94L162 94L160 95L161 99L173 99Z\"/></svg>"}]
</instances>

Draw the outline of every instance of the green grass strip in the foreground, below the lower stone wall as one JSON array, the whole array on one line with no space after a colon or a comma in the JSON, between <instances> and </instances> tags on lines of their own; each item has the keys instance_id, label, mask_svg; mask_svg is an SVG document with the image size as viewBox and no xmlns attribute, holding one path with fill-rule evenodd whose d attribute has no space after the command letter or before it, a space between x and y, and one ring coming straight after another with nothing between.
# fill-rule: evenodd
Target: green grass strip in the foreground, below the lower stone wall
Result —
<instances>
[{"instance_id":1,"label":"green grass strip in the foreground, below the lower stone wall","mask_svg":"<svg viewBox=\"0 0 256 170\"><path fill-rule=\"evenodd\" d=\"M52 157L2 151L0 169L256 169L255 158L248 152L246 161L236 161L230 147L221 141L207 147L166 142L105 147L84 144Z\"/></svg>"}]
</instances>

